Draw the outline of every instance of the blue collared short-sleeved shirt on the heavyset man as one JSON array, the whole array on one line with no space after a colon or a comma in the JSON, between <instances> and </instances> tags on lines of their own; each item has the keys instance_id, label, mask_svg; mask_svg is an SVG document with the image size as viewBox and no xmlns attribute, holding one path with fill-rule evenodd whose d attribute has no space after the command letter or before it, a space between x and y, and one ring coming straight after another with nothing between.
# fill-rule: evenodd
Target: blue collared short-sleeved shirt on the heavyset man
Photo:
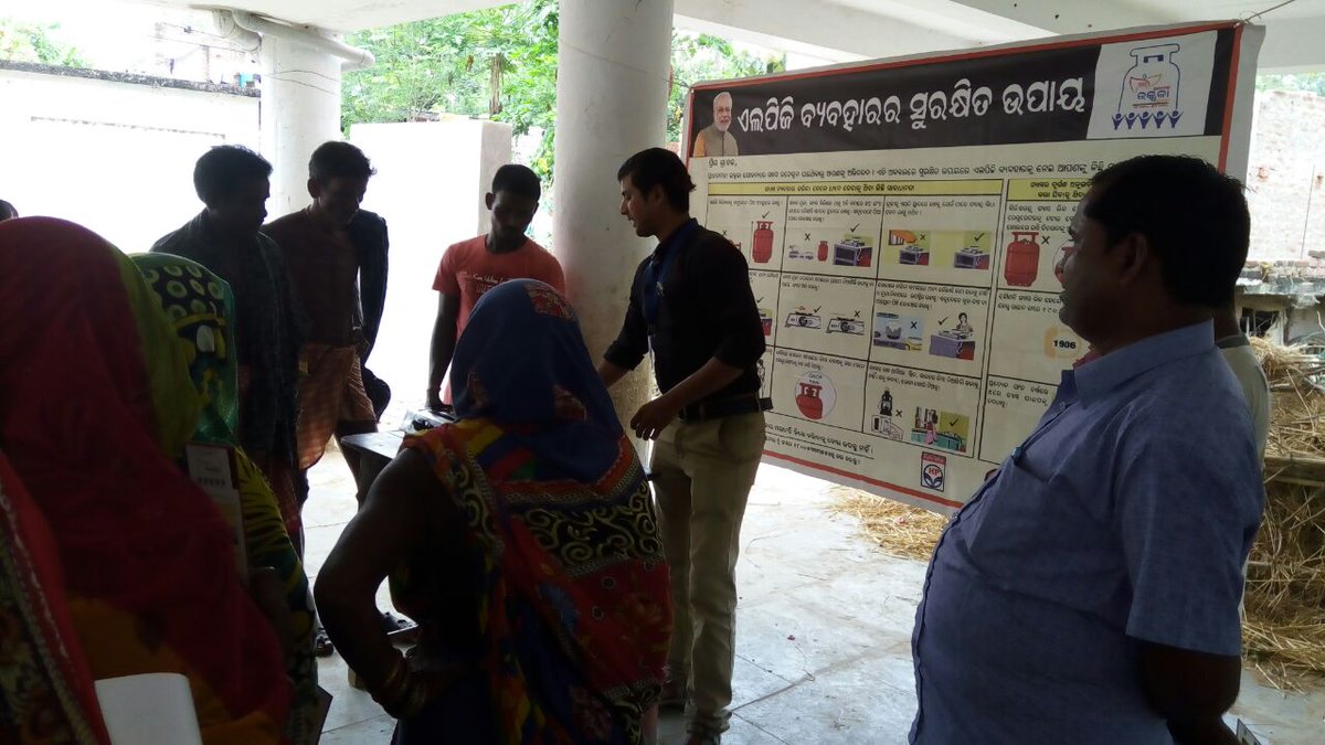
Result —
<instances>
[{"instance_id":1,"label":"blue collared short-sleeved shirt on the heavyset man","mask_svg":"<svg viewBox=\"0 0 1325 745\"><path fill-rule=\"evenodd\" d=\"M1141 691L1141 642L1240 654L1263 508L1247 406L1210 323L1064 372L934 549L912 742L1170 744Z\"/></svg>"}]
</instances>

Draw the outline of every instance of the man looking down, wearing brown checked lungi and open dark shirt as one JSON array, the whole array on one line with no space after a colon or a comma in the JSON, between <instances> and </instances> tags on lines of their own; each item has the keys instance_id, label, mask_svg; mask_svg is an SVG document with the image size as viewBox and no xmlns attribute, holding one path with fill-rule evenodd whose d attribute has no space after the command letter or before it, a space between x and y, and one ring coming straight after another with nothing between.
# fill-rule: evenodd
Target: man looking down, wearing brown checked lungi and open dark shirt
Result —
<instances>
[{"instance_id":1,"label":"man looking down, wearing brown checked lungi and open dark shirt","mask_svg":"<svg viewBox=\"0 0 1325 745\"><path fill-rule=\"evenodd\" d=\"M307 325L299 350L305 372L299 380L299 471L305 473L322 459L333 436L339 440L378 430L359 366L367 338L359 302L360 255L350 233L372 174L358 147L323 143L309 160L313 204L264 229L281 247ZM344 459L362 498L368 488L366 475L360 475L355 453L346 451ZM306 479L301 489L302 506Z\"/></svg>"}]
</instances>

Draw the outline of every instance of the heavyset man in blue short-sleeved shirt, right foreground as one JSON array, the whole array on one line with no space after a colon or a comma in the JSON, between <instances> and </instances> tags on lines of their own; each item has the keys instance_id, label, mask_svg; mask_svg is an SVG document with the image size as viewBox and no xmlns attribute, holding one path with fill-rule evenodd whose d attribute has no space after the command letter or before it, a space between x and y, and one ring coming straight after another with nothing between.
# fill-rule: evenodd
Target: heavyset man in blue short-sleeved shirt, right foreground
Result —
<instances>
[{"instance_id":1,"label":"heavyset man in blue short-sleeved shirt, right foreground","mask_svg":"<svg viewBox=\"0 0 1325 745\"><path fill-rule=\"evenodd\" d=\"M1265 494L1212 319L1249 225L1242 184L1195 158L1090 180L1059 317L1098 357L934 549L912 742L1236 742L1222 715Z\"/></svg>"}]
</instances>

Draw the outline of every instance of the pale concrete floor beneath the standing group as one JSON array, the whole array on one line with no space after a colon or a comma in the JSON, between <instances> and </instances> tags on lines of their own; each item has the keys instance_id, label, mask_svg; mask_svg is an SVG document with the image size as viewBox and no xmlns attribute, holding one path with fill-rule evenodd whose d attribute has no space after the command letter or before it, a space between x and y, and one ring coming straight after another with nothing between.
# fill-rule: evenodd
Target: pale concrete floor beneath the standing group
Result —
<instances>
[{"instance_id":1,"label":"pale concrete floor beneath the standing group","mask_svg":"<svg viewBox=\"0 0 1325 745\"><path fill-rule=\"evenodd\" d=\"M335 451L311 473L305 510L307 570L315 575L355 510ZM832 514L828 484L765 465L741 534L734 716L723 745L906 741L916 712L910 630L925 563L888 557ZM390 607L387 593L379 604ZM384 744L395 722L350 688L339 656L321 661L333 693L322 742ZM1325 689L1284 695L1243 676L1231 712L1263 745L1325 742ZM684 742L665 716L661 745Z\"/></svg>"}]
</instances>

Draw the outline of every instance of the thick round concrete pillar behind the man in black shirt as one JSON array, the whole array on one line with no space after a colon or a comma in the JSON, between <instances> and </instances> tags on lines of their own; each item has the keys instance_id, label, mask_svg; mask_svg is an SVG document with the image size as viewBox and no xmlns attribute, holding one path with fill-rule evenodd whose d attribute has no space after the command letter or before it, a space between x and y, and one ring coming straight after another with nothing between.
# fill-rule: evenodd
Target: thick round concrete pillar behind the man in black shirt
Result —
<instances>
[{"instance_id":1,"label":"thick round concrete pillar behind the man in black shirt","mask_svg":"<svg viewBox=\"0 0 1325 745\"><path fill-rule=\"evenodd\" d=\"M553 248L596 361L620 330L635 266L656 245L620 216L616 170L666 142L672 0L562 0L558 38ZM652 386L640 370L612 388L623 420Z\"/></svg>"}]
</instances>

